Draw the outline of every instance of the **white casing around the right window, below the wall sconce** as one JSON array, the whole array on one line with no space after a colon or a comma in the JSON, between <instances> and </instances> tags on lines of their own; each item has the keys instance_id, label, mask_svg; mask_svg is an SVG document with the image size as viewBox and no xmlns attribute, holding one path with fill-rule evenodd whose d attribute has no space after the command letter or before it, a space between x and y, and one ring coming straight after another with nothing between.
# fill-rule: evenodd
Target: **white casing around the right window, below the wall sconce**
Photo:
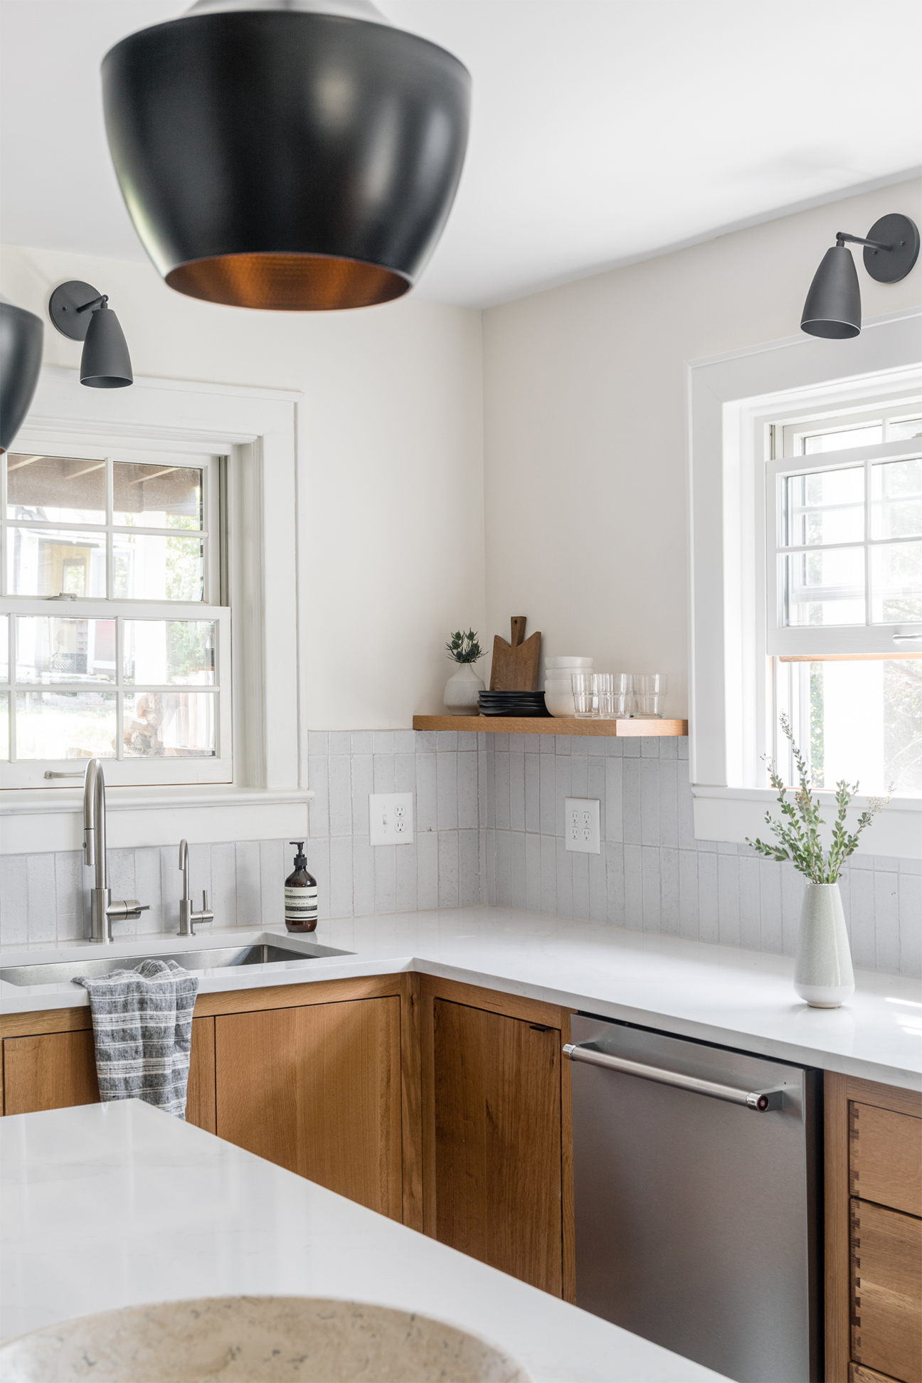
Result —
<instances>
[{"instance_id":1,"label":"white casing around the right window, below the wall sconce","mask_svg":"<svg viewBox=\"0 0 922 1383\"><path fill-rule=\"evenodd\" d=\"M849 342L793 336L686 365L688 484L688 768L698 839L764 835L775 794L756 781L769 689L764 639L764 429L787 412L922 386L910 308L865 322ZM756 542L752 534L762 535ZM825 804L831 792L818 792ZM863 801L863 799L858 799ZM894 798L860 852L922 857L922 799Z\"/></svg>"}]
</instances>

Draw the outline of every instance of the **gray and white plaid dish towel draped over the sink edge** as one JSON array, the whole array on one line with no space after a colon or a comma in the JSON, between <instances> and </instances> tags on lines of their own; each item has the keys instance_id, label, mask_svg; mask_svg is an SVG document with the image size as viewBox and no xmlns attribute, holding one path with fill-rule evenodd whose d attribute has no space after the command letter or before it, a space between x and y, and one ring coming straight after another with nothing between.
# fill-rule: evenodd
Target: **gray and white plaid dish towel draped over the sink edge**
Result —
<instances>
[{"instance_id":1,"label":"gray and white plaid dish towel draped over the sink edge","mask_svg":"<svg viewBox=\"0 0 922 1383\"><path fill-rule=\"evenodd\" d=\"M174 960L145 960L73 983L90 994L100 1097L145 1099L185 1119L198 976Z\"/></svg>"}]
</instances>

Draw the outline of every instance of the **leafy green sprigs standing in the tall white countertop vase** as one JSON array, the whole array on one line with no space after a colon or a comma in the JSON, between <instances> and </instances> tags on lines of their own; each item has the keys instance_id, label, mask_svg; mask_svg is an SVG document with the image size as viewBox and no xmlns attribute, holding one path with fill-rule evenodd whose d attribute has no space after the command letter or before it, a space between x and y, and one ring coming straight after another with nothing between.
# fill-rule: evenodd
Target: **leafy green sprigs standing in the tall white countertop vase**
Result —
<instances>
[{"instance_id":1,"label":"leafy green sprigs standing in the tall white countertop vase","mask_svg":"<svg viewBox=\"0 0 922 1383\"><path fill-rule=\"evenodd\" d=\"M778 790L782 820L774 822L771 812L766 812L766 823L771 827L771 833L777 837L778 844L770 844L758 837L755 841L746 837L746 844L752 845L759 855L766 855L769 859L791 860L793 867L800 874L805 874L811 884L835 884L849 855L853 855L858 848L861 831L871 824L874 816L890 798L868 798L867 809L858 817L854 831L849 833L845 828L845 816L852 798L858 791L858 784L853 783L849 786L845 779L840 779L835 786L838 813L835 826L832 827L832 844L828 851L824 851L820 841L820 827L825 826L825 822L820 816L818 799L814 802L810 792L810 769L800 750L793 743L793 732L787 715L781 716L781 729L791 744L800 787L793 795L793 802L789 802L787 798L788 790L782 779L771 759L767 761L771 786Z\"/></svg>"}]
</instances>

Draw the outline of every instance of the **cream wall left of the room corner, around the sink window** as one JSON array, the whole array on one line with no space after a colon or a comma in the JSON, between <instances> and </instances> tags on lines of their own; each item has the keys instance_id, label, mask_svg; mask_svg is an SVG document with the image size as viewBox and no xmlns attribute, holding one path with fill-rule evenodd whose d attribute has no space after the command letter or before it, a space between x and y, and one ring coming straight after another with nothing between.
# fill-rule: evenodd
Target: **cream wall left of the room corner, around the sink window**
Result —
<instances>
[{"instance_id":1,"label":"cream wall left of the room corner, around the sink window","mask_svg":"<svg viewBox=\"0 0 922 1383\"><path fill-rule=\"evenodd\" d=\"M480 313L413 299L253 313L182 297L142 264L4 246L0 290L44 319L46 364L72 368L80 346L46 317L69 278L109 295L135 375L303 390L307 725L441 711L445 639L485 622Z\"/></svg>"}]
</instances>

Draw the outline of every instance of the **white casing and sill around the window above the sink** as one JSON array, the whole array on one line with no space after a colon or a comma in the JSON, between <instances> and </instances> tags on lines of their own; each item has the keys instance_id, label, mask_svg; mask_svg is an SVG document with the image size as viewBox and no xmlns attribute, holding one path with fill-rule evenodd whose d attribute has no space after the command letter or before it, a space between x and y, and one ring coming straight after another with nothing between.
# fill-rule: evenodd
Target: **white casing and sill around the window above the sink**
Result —
<instances>
[{"instance_id":1,"label":"white casing and sill around the window above the sink","mask_svg":"<svg viewBox=\"0 0 922 1383\"><path fill-rule=\"evenodd\" d=\"M227 786L111 787L112 846L272 839L307 831L305 531L303 396L288 390L135 378L131 389L83 389L72 369L46 366L17 449L32 433L70 447L123 436L159 449L231 458L234 610L234 781ZM265 592L272 599L265 599ZM267 676L265 653L272 671ZM80 790L0 787L0 855L77 849Z\"/></svg>"}]
</instances>

